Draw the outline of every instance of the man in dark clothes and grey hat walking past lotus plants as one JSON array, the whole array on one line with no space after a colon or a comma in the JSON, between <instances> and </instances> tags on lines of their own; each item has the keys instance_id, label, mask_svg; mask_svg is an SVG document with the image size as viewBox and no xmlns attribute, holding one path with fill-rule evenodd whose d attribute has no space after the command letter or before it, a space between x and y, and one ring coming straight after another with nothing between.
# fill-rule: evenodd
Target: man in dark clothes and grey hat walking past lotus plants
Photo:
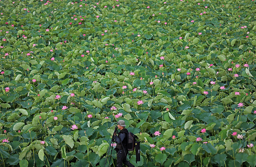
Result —
<instances>
[{"instance_id":1,"label":"man in dark clothes and grey hat walking past lotus plants","mask_svg":"<svg viewBox=\"0 0 256 167\"><path fill-rule=\"evenodd\" d=\"M117 122L117 127L120 130L119 132L119 136L115 135L115 139L116 139L116 158L117 158L117 162L116 162L116 166L117 167L123 167L123 163L128 166L128 167L134 167L134 165L132 163L130 163L129 161L127 161L126 156L128 154L128 150L127 150L127 134L128 134L128 130L126 128L124 128L125 122L124 120L119 120ZM122 144L123 146L122 146Z\"/></svg>"}]
</instances>

